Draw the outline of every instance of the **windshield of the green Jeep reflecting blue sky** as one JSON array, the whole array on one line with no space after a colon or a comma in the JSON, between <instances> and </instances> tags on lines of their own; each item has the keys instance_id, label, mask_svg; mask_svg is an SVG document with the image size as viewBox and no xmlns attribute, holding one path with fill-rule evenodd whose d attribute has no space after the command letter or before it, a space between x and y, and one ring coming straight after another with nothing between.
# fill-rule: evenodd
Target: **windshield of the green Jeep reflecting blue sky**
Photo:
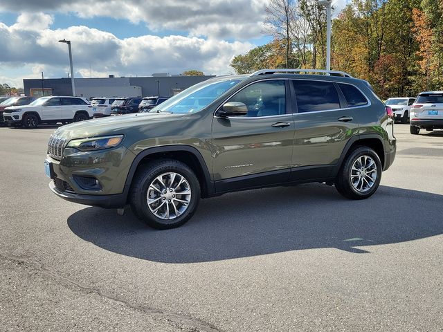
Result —
<instances>
[{"instance_id":1,"label":"windshield of the green Jeep reflecting blue sky","mask_svg":"<svg viewBox=\"0 0 443 332\"><path fill-rule=\"evenodd\" d=\"M195 113L235 86L241 79L210 80L195 84L154 107L152 112Z\"/></svg>"}]
</instances>

